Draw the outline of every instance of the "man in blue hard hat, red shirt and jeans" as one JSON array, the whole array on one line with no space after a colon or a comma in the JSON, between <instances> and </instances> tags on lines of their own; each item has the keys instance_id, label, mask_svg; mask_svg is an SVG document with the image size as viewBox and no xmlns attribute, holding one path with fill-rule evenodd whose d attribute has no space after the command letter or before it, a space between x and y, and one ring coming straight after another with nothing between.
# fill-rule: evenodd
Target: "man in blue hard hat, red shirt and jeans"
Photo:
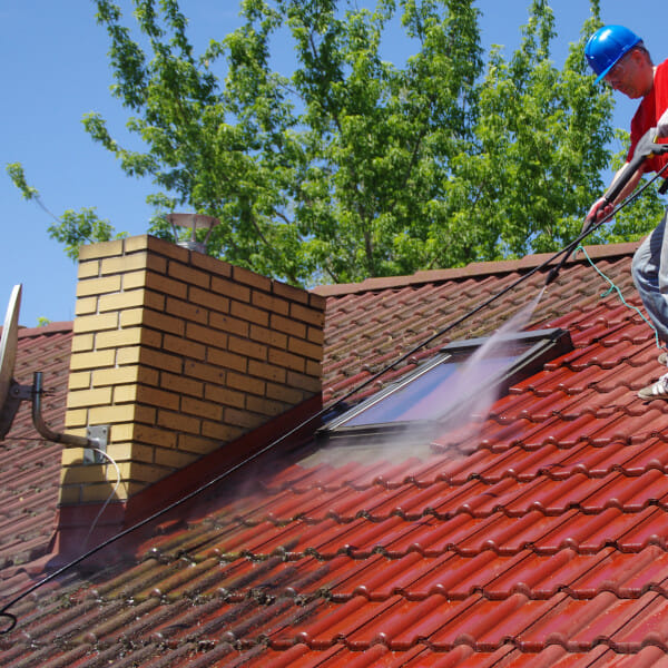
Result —
<instances>
[{"instance_id":1,"label":"man in blue hard hat, red shirt and jeans","mask_svg":"<svg viewBox=\"0 0 668 668\"><path fill-rule=\"evenodd\" d=\"M584 48L591 69L613 90L619 90L631 99L640 99L640 105L631 120L631 146L629 161L640 138L656 128L656 137L668 137L668 60L655 67L642 40L622 26L606 26L595 32ZM654 132L652 132L654 134ZM658 171L668 161L668 155L654 156L631 176L628 184L609 203L600 198L589 210L589 224L608 216L615 206L630 195L646 171ZM612 185L621 170L615 175ZM665 173L668 176L668 173ZM655 325L664 346L668 345L668 235L666 218L642 242L633 256L631 273L633 283L642 298L645 308ZM668 353L659 355L659 362L668 364ZM642 400L668 400L668 373L656 383L638 392Z\"/></svg>"}]
</instances>

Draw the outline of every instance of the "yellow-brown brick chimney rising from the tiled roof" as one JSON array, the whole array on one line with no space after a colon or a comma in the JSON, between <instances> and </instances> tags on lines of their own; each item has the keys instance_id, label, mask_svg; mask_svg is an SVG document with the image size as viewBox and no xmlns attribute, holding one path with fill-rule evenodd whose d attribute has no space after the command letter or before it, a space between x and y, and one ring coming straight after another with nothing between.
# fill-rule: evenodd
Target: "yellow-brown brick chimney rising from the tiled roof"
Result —
<instances>
[{"instance_id":1,"label":"yellow-brown brick chimney rising from the tiled roof","mask_svg":"<svg viewBox=\"0 0 668 668\"><path fill-rule=\"evenodd\" d=\"M117 503L320 409L323 297L151 236L84 247L78 278L66 431L110 425ZM61 528L116 479L66 449Z\"/></svg>"}]
</instances>

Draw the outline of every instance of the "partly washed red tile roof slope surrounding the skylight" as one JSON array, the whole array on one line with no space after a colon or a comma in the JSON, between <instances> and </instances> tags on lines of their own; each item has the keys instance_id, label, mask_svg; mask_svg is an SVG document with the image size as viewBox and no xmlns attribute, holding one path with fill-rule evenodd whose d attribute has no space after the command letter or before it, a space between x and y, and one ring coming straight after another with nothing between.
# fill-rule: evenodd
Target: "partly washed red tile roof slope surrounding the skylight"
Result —
<instances>
[{"instance_id":1,"label":"partly washed red tile roof slope surrounding the skylight","mask_svg":"<svg viewBox=\"0 0 668 668\"><path fill-rule=\"evenodd\" d=\"M639 306L630 249L592 255ZM320 291L328 401L540 262ZM543 282L431 348L494 331ZM0 664L668 666L668 404L636 397L661 372L654 335L607 287L586 262L561 273L531 326L574 350L474 430L261 462L136 557L14 606Z\"/></svg>"}]
</instances>

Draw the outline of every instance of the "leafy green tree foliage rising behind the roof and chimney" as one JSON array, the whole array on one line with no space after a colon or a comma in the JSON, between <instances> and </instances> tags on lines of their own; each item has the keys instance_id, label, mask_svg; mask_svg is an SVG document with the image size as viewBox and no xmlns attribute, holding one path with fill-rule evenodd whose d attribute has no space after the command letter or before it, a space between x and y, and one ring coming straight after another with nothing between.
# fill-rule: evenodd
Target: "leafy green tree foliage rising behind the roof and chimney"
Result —
<instances>
[{"instance_id":1,"label":"leafy green tree foliage rising behind the roof and chimney","mask_svg":"<svg viewBox=\"0 0 668 668\"><path fill-rule=\"evenodd\" d=\"M141 149L98 114L84 125L153 180L154 234L171 234L165 213L208 214L212 255L294 284L351 282L558 249L602 188L612 100L582 58L598 0L562 69L546 0L520 47L487 62L473 0L243 0L243 24L200 55L177 0L134 2L134 23L95 3ZM390 24L412 48L404 62L384 57ZM285 42L289 76L273 68ZM112 234L91 209L50 230L70 249Z\"/></svg>"}]
</instances>

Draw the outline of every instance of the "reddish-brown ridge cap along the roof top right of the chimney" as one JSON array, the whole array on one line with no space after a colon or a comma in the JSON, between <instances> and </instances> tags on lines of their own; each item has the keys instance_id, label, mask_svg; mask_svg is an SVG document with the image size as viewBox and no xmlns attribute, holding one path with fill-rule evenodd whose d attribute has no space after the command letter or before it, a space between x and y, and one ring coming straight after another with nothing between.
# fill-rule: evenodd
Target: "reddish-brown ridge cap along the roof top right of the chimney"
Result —
<instances>
[{"instance_id":1,"label":"reddish-brown ridge cap along the roof top right of the chimney","mask_svg":"<svg viewBox=\"0 0 668 668\"><path fill-rule=\"evenodd\" d=\"M627 242L623 244L600 244L597 246L584 246L587 254L592 259L618 258L626 255L631 256L638 248L640 242ZM452 269L431 269L415 272L409 276L387 276L380 278L366 278L360 283L338 283L332 285L317 285L311 292L323 297L338 297L348 294L374 292L393 287L409 287L423 285L425 283L440 283L444 281L459 281L461 278L483 278L490 275L510 274L513 272L531 271L554 256L554 253L537 253L525 255L521 259L502 259L495 262L474 262L465 267ZM569 259L567 264L579 264L582 258Z\"/></svg>"}]
</instances>

